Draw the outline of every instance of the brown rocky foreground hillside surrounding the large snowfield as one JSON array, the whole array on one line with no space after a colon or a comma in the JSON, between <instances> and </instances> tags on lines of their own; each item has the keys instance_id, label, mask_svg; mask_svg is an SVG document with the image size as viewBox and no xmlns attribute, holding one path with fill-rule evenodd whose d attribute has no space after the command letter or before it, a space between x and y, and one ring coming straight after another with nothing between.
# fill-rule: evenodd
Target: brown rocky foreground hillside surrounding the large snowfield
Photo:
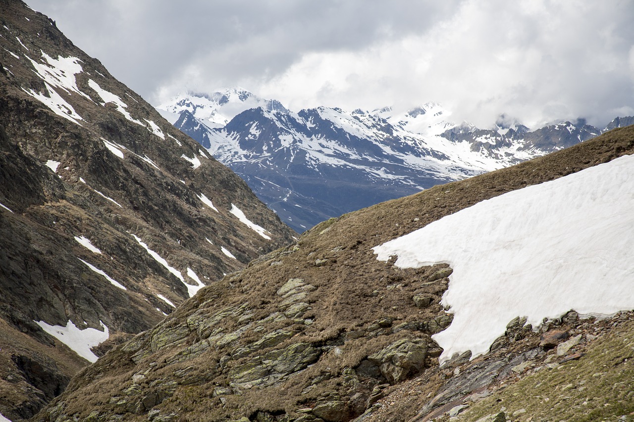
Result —
<instances>
[{"instance_id":1,"label":"brown rocky foreground hillside surrounding the large snowfield","mask_svg":"<svg viewBox=\"0 0 634 422\"><path fill-rule=\"evenodd\" d=\"M595 322L571 310L538 331L518 316L488 354L453 356L439 367L442 350L430 336L451 324L440 299L453 270L447 264L399 269L394 259L377 260L372 248L480 201L631 153L634 127L615 129L323 222L115 347L34 420L427 421L451 412L500 422L505 411L510 420L559 420L566 397L573 397L564 393L569 388L595 373L605 373L605 382L627 379L602 368L612 362L630 371L630 348L605 347L630 344L631 314ZM563 368L557 380L548 378L553 368ZM515 381L526 384L514 387ZM519 400L537 393L521 385L538 385L543 395L523 405ZM626 401L631 391L623 385L576 395L595 397L579 402L585 407L576 414L616 420L634 410ZM551 410L544 400L552 400Z\"/></svg>"}]
</instances>

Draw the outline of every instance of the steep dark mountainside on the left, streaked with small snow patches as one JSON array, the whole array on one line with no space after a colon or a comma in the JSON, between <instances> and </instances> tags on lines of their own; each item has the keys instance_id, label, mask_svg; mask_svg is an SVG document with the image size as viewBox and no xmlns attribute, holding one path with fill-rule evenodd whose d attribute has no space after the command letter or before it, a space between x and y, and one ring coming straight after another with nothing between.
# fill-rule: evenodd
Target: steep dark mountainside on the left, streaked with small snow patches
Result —
<instances>
[{"instance_id":1,"label":"steep dark mountainside on the left, streaked with small snow patches","mask_svg":"<svg viewBox=\"0 0 634 422\"><path fill-rule=\"evenodd\" d=\"M295 233L55 22L16 0L0 20L0 412L16 420Z\"/></svg>"}]
</instances>

